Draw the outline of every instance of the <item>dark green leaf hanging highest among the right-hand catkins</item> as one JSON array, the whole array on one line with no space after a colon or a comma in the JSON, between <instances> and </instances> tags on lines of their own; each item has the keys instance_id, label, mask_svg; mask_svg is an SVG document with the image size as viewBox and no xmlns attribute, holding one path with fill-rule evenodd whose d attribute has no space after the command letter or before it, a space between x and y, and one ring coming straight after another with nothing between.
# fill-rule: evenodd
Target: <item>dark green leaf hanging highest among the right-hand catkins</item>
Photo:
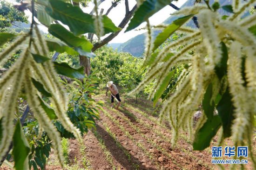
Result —
<instances>
[{"instance_id":1,"label":"dark green leaf hanging highest among the right-hand catkins","mask_svg":"<svg viewBox=\"0 0 256 170\"><path fill-rule=\"evenodd\" d=\"M227 62L228 62L228 48L226 44L221 42L222 58L220 63L215 66L215 72L218 78L221 80L224 75L227 74Z\"/></svg>"}]
</instances>

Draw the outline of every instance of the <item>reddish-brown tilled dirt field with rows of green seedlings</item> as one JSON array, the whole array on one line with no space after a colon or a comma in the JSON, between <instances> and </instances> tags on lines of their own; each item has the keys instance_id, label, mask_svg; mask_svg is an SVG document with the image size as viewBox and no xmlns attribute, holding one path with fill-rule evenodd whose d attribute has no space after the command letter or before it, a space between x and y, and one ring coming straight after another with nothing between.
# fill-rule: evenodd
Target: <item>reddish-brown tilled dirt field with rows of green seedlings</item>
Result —
<instances>
[{"instance_id":1,"label":"reddish-brown tilled dirt field with rows of green seedlings","mask_svg":"<svg viewBox=\"0 0 256 170\"><path fill-rule=\"evenodd\" d=\"M208 148L205 151L193 151L191 143L189 143L188 138L186 138L186 136L188 136L186 133L183 133L185 139L180 139L177 146L173 148L170 142L165 140L171 139L172 137L170 129L166 130L156 125L155 122L148 120L132 108L122 105L118 112L114 109L110 109L108 107L109 103L107 103L109 99L103 95L97 96L97 100L106 102L106 106L104 106L103 109L109 113L110 117L112 116L115 121L111 120L103 111L100 111L101 119L97 120L96 132L98 137L102 139L105 150L101 148L93 132L90 131L84 136L86 155L91 164L90 170L218 169L211 164L212 157L210 149ZM124 101L144 113L148 113L152 118L156 118L150 114L151 111L154 111L151 101L139 101L137 105L135 105L132 99L124 99ZM138 122L138 120L140 122ZM119 126L117 126L115 122L118 122ZM147 125L151 127L149 128ZM123 129L120 127L123 127ZM161 132L162 136L153 132L154 129ZM116 144L116 141L111 137L108 131L115 134L116 140L121 144L122 149L120 145L118 146ZM217 138L215 137L210 147L214 146L216 141ZM232 146L230 139L227 139L225 142L226 145ZM142 148L144 148L144 150ZM108 157L106 157L106 151L110 153ZM129 155L129 159L127 155ZM76 162L74 162L74 159L76 159ZM109 159L112 160L112 163ZM83 167L81 162L82 155L79 145L76 140L71 139L69 140L69 165L78 164L81 170L88 170ZM246 167L252 169L251 163L246 165ZM55 170L55 168L57 170L59 167L47 165L47 170Z\"/></svg>"}]
</instances>

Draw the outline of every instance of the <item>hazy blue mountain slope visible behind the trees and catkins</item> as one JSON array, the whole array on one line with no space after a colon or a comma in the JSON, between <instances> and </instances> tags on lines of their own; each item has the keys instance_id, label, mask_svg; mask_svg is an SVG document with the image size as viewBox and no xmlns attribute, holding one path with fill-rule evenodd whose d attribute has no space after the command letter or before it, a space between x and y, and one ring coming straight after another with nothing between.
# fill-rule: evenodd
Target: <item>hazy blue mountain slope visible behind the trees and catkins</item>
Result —
<instances>
[{"instance_id":1,"label":"hazy blue mountain slope visible behind the trees and catkins","mask_svg":"<svg viewBox=\"0 0 256 170\"><path fill-rule=\"evenodd\" d=\"M187 7L187 6L193 6L194 1L195 0L188 0L185 4L182 5L181 8ZM214 2L214 0L210 0L210 4L212 4L213 2ZM230 3L231 3L230 0L220 0L220 4L222 6L228 5ZM229 13L225 12L222 9L219 9L219 13L221 13L222 15L228 15L229 14ZM178 18L177 16L170 16L163 23L164 24L170 24L172 21L174 21L177 18ZM191 27L195 27L192 20L189 21L187 23L187 25L191 26ZM161 31L155 30L153 32L154 32L153 33L153 38L155 38ZM129 52L130 54L132 54L135 57L141 57L141 55L143 54L143 51L144 51L144 42L145 42L145 33L137 35L136 37L131 38L127 42L121 44L118 47L118 50L123 51L123 52Z\"/></svg>"}]
</instances>

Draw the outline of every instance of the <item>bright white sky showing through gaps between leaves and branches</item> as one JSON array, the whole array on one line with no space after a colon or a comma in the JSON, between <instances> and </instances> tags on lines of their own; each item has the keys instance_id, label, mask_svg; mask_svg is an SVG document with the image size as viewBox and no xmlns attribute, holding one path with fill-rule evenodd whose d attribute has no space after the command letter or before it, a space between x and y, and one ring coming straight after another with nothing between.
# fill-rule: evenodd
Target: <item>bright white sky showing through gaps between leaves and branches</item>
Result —
<instances>
[{"instance_id":1,"label":"bright white sky showing through gaps between leaves and branches","mask_svg":"<svg viewBox=\"0 0 256 170\"><path fill-rule=\"evenodd\" d=\"M14 0L7 0L10 2L13 2ZM102 2L99 6L99 8L104 9L104 13L107 12L108 8L111 6L111 2L113 0L105 0L104 2ZM176 6L180 7L182 6L187 0L179 0L178 2L173 2L173 4L175 4ZM133 8L133 6L135 6L136 4L136 0L129 0L129 8L130 10ZM93 3L89 3L89 6L86 8L83 8L83 11L85 13L90 13L93 9ZM175 11L175 9L173 9L170 6L166 6L164 7L162 10L160 10L158 13L155 13L155 15L153 15L152 17L149 18L149 22L151 25L159 25L161 24L165 19L167 19L171 13L173 13ZM31 20L31 13L29 11L25 11L26 15L29 16L29 20ZM108 17L110 19L112 19L112 21L114 22L114 24L116 26L118 26L121 22L121 20L124 18L125 16L125 4L124 4L124 0L121 0L121 3L118 4L117 7L115 7L114 9L112 9L112 11L108 14ZM143 28L145 27L146 23L142 23L139 27L137 27L136 29L139 28ZM126 25L128 26L128 25ZM47 28L44 26L41 26L40 29L44 32L47 32ZM143 32L145 32L145 30L140 30L140 31L136 31L136 30L132 30L132 31L128 31L126 33L124 33L125 29L123 29L112 41L110 41L109 43L124 43L126 41L128 41L130 38L133 38ZM108 36L108 35L106 35ZM105 37L106 37L105 36ZM103 39L104 37L102 37L101 39Z\"/></svg>"}]
</instances>

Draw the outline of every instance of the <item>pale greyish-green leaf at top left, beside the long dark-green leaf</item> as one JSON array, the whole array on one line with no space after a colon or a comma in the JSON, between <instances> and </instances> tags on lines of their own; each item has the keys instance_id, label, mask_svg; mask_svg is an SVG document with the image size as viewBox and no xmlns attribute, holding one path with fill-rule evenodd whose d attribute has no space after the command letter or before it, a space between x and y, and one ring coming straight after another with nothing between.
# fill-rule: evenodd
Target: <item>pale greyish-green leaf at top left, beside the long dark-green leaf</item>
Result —
<instances>
[{"instance_id":1,"label":"pale greyish-green leaf at top left, beside the long dark-green leaf","mask_svg":"<svg viewBox=\"0 0 256 170\"><path fill-rule=\"evenodd\" d=\"M43 5L41 5L41 4L43 4ZM47 0L37 0L36 1L36 3L35 3L36 18L43 25L50 26L51 23L53 23L54 19L46 13L45 6L50 6L49 1L47 1Z\"/></svg>"}]
</instances>

